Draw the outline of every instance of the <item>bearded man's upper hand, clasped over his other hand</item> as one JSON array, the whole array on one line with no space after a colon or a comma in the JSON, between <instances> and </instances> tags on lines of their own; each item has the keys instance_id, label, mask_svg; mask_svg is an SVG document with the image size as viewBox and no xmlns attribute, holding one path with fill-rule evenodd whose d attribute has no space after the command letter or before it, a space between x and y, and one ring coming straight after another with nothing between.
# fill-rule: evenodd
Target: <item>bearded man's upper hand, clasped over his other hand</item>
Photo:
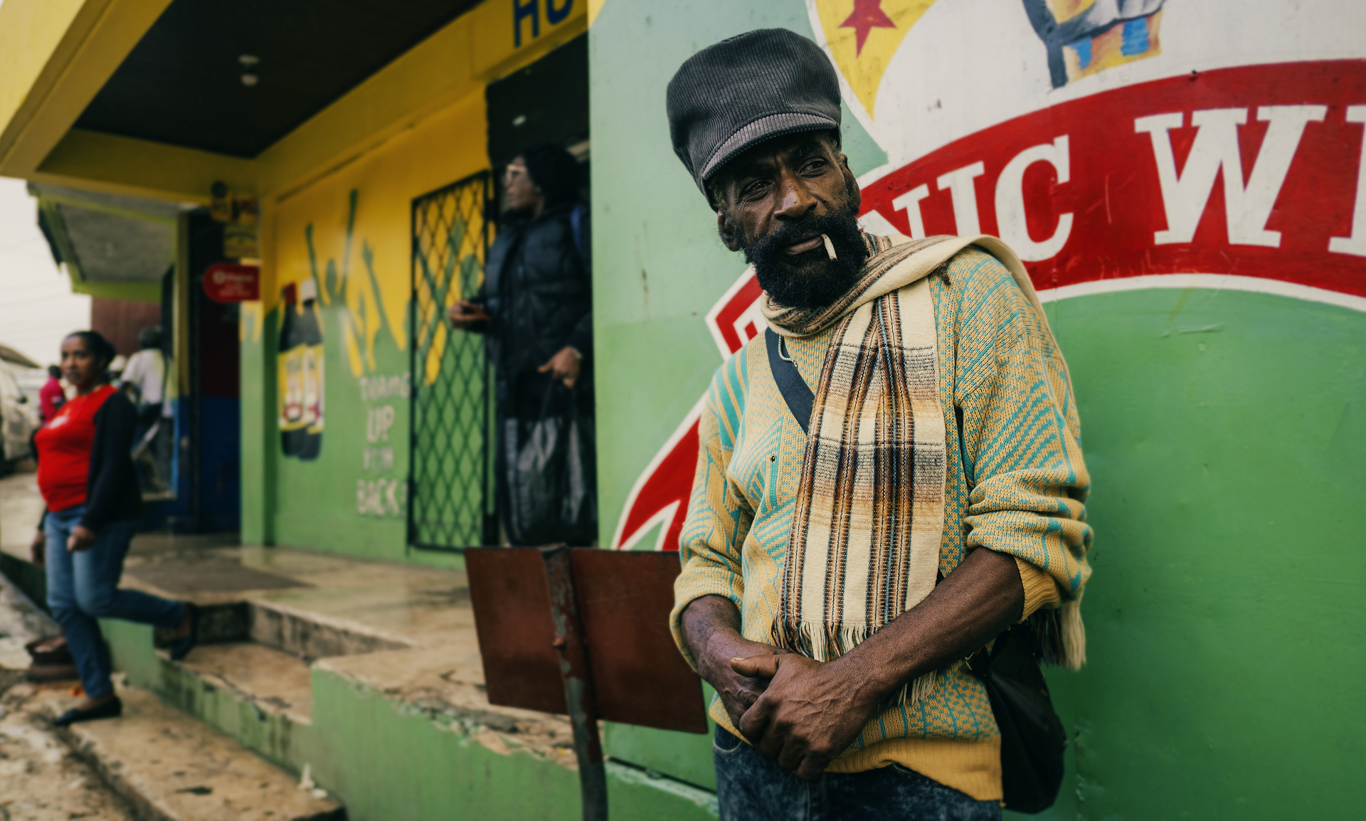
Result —
<instances>
[{"instance_id":1,"label":"bearded man's upper hand, clasped over his other hand","mask_svg":"<svg viewBox=\"0 0 1366 821\"><path fill-rule=\"evenodd\" d=\"M788 653L731 663L742 676L769 679L735 727L759 753L798 777L814 780L858 738L877 699L839 661Z\"/></svg>"}]
</instances>

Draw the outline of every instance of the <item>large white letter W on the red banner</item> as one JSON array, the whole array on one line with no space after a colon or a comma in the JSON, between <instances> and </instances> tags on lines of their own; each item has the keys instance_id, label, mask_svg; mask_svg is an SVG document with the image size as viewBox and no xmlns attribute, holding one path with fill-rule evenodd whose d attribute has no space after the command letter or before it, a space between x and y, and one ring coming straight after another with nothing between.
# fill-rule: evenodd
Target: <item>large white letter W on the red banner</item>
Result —
<instances>
[{"instance_id":1,"label":"large white letter W on the red banner","mask_svg":"<svg viewBox=\"0 0 1366 821\"><path fill-rule=\"evenodd\" d=\"M1322 120L1326 113L1328 108L1324 105L1264 105L1257 109L1257 119L1270 124L1246 186L1238 127L1247 123L1247 109L1210 108L1194 112L1191 124L1199 131L1180 175L1176 173L1169 131L1182 127L1183 116L1161 113L1134 120L1134 131L1147 133L1153 141L1157 180L1162 187L1162 205L1167 209L1167 231L1156 231L1153 242L1169 245L1195 238L1195 227L1199 225L1210 191L1214 190L1214 178L1223 168L1228 242L1280 247L1280 231L1268 231L1266 220L1276 206L1276 197L1285 182L1291 160L1295 158L1305 126Z\"/></svg>"}]
</instances>

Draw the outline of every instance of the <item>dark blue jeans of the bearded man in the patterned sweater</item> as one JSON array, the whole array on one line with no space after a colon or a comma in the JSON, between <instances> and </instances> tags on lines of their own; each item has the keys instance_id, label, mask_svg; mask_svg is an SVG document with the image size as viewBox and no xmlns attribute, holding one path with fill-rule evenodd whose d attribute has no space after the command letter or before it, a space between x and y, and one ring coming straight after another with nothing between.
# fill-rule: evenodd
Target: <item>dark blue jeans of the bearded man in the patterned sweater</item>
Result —
<instances>
[{"instance_id":1,"label":"dark blue jeans of the bearded man in the patterned sweater","mask_svg":"<svg viewBox=\"0 0 1366 821\"><path fill-rule=\"evenodd\" d=\"M712 758L721 821L1001 821L1000 803L977 801L896 764L803 781L720 727Z\"/></svg>"}]
</instances>

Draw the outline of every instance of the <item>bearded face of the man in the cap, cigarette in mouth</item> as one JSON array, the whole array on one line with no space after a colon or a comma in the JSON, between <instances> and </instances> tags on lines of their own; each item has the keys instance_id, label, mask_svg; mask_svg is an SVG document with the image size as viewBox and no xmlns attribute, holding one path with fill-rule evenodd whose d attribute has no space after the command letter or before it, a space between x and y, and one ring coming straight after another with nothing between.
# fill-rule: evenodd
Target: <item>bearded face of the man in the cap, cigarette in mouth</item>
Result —
<instances>
[{"instance_id":1,"label":"bearded face of the man in the cap, cigarette in mouth","mask_svg":"<svg viewBox=\"0 0 1366 821\"><path fill-rule=\"evenodd\" d=\"M779 305L822 307L858 279L867 258L855 221L858 182L825 134L777 137L750 149L721 169L712 191L721 240L744 251Z\"/></svg>"}]
</instances>

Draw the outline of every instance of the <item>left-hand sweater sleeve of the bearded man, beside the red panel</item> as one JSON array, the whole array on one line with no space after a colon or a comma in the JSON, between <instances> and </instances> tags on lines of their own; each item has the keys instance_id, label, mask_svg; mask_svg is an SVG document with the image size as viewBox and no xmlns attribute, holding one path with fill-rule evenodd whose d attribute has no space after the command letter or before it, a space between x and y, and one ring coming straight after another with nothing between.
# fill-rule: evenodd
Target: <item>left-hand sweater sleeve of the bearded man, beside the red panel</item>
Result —
<instances>
[{"instance_id":1,"label":"left-hand sweater sleeve of the bearded man, beside the red panel","mask_svg":"<svg viewBox=\"0 0 1366 821\"><path fill-rule=\"evenodd\" d=\"M739 489L729 481L727 469L735 451L736 425L740 418L735 413L735 398L743 393L739 387L738 359L743 351L731 357L712 380L702 415L698 419L697 471L693 475L693 493L688 499L687 519L679 534L679 561L682 572L673 582L673 612L669 627L683 658L693 668L697 660L683 641L683 609L703 596L724 596L744 609L744 574L742 546L754 522L750 508ZM727 377L731 378L727 378ZM729 408L731 413L724 413Z\"/></svg>"}]
</instances>

